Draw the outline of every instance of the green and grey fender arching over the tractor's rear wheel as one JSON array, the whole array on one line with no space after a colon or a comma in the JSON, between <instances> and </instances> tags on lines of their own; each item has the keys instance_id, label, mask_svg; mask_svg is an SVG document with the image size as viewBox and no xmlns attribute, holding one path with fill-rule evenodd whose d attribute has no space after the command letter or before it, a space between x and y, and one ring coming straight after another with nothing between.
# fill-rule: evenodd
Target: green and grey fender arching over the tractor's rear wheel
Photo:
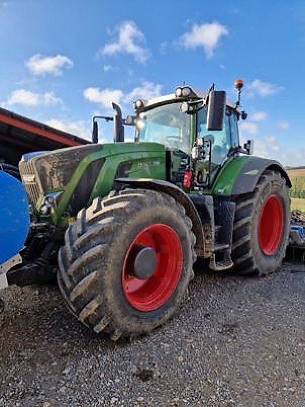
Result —
<instances>
[{"instance_id":1,"label":"green and grey fender arching over the tractor's rear wheel","mask_svg":"<svg viewBox=\"0 0 305 407\"><path fill-rule=\"evenodd\" d=\"M280 163L261 157L241 156L230 159L221 169L212 188L213 195L241 195L254 191L259 177L266 169L276 169L285 178L287 186L291 182Z\"/></svg>"}]
</instances>

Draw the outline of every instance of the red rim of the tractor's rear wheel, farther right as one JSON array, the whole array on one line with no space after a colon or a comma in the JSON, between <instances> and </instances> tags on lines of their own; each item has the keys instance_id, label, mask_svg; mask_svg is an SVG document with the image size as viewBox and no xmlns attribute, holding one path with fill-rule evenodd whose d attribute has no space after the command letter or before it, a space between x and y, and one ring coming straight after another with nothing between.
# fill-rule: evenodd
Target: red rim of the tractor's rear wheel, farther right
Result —
<instances>
[{"instance_id":1,"label":"red rim of the tractor's rear wheel, farther right","mask_svg":"<svg viewBox=\"0 0 305 407\"><path fill-rule=\"evenodd\" d=\"M279 248L284 229L284 210L277 195L270 195L264 202L258 222L258 241L261 251L270 256Z\"/></svg>"}]
</instances>

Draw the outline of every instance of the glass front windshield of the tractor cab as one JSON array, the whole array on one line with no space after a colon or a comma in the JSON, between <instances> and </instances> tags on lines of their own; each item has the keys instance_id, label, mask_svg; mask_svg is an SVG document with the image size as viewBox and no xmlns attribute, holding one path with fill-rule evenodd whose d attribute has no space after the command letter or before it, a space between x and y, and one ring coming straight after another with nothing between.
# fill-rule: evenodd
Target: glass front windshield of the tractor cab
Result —
<instances>
[{"instance_id":1,"label":"glass front windshield of the tractor cab","mask_svg":"<svg viewBox=\"0 0 305 407\"><path fill-rule=\"evenodd\" d=\"M190 154L190 115L181 113L179 106L172 103L140 113L139 141L157 142Z\"/></svg>"}]
</instances>

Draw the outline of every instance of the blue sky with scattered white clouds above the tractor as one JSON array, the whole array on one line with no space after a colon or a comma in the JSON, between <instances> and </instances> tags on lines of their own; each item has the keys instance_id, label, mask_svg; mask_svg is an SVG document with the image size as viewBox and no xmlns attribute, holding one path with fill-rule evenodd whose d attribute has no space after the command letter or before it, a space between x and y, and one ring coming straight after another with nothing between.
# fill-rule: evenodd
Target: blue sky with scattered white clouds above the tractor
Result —
<instances>
[{"instance_id":1,"label":"blue sky with scattered white clouds above the tractor","mask_svg":"<svg viewBox=\"0 0 305 407\"><path fill-rule=\"evenodd\" d=\"M189 6L191 4L191 6ZM0 105L83 137L112 100L212 82L235 99L255 153L305 165L305 3L0 0ZM103 125L101 139L111 141Z\"/></svg>"}]
</instances>

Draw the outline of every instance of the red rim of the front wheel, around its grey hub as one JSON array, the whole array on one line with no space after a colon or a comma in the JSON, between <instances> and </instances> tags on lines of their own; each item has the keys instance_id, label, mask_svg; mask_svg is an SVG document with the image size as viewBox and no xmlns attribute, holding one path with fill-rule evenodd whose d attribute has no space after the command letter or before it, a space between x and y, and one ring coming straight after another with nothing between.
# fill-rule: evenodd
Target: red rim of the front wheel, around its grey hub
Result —
<instances>
[{"instance_id":1,"label":"red rim of the front wheel, around its grey hub","mask_svg":"<svg viewBox=\"0 0 305 407\"><path fill-rule=\"evenodd\" d=\"M132 254L151 247L157 263L151 278L141 280L132 273ZM125 297L140 311L153 311L170 299L179 282L183 263L180 239L168 225L156 223L143 229L130 244L124 259L122 284Z\"/></svg>"}]
</instances>

